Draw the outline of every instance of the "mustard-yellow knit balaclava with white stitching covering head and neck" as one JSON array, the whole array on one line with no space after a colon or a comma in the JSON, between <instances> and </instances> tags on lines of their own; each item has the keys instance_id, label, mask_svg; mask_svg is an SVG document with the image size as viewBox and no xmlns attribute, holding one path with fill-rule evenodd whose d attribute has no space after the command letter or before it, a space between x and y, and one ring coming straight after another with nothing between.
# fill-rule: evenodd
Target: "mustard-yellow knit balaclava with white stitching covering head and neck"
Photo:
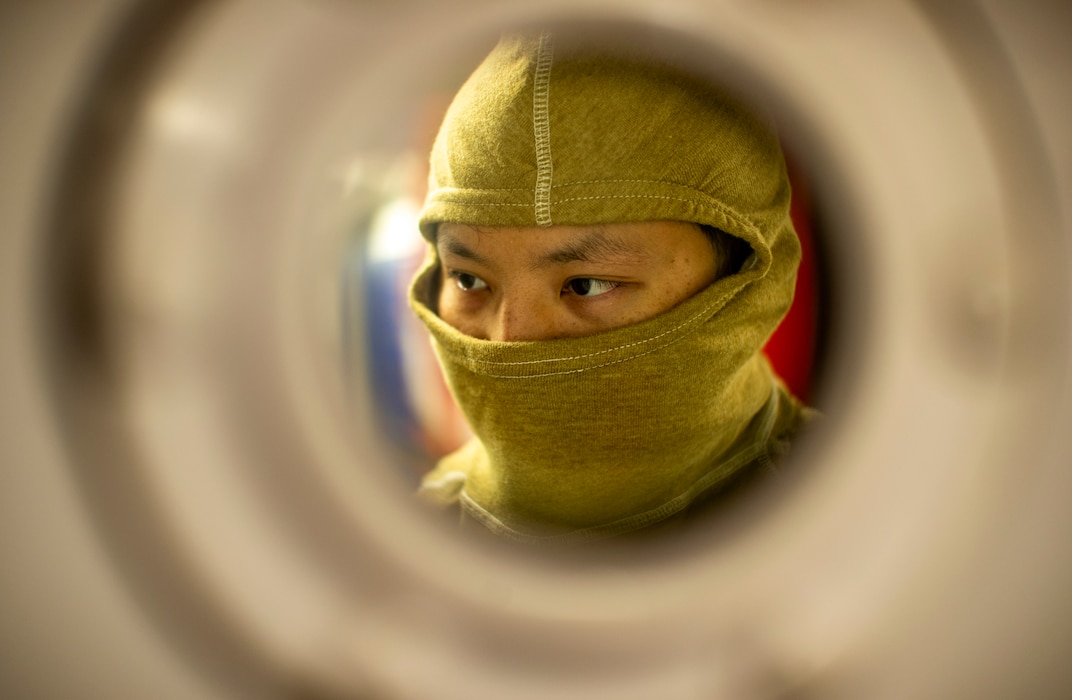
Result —
<instances>
[{"instance_id":1,"label":"mustard-yellow knit balaclava with white stitching covering head and neck","mask_svg":"<svg viewBox=\"0 0 1072 700\"><path fill-rule=\"evenodd\" d=\"M478 340L435 313L434 248L411 302L475 437L426 498L516 540L592 539L687 508L770 459L800 405L760 353L800 245L776 137L669 65L504 39L447 111L420 227L679 220L751 248L740 271L649 321L584 338Z\"/></svg>"}]
</instances>

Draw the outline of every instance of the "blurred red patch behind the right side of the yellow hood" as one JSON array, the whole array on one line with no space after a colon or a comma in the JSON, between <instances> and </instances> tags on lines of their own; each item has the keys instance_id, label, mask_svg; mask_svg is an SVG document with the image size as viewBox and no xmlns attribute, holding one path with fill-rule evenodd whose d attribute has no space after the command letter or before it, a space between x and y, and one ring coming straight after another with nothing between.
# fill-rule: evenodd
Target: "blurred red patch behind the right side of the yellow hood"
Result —
<instances>
[{"instance_id":1,"label":"blurred red patch behind the right side of the yellow hood","mask_svg":"<svg viewBox=\"0 0 1072 700\"><path fill-rule=\"evenodd\" d=\"M793 190L789 215L801 240L801 266L793 304L763 352L789 390L806 403L812 391L818 333L818 280L807 187L791 163L789 181Z\"/></svg>"}]
</instances>

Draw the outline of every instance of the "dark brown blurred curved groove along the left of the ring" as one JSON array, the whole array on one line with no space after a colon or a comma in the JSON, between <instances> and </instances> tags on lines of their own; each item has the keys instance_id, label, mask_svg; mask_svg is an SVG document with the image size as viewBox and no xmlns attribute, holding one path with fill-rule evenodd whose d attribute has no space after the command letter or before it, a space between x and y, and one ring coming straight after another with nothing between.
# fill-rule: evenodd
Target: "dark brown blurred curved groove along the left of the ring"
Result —
<instances>
[{"instance_id":1,"label":"dark brown blurred curved groove along the left of the ring","mask_svg":"<svg viewBox=\"0 0 1072 700\"><path fill-rule=\"evenodd\" d=\"M279 670L204 605L180 556L162 554L172 548L168 524L147 497L151 489L109 397L115 367L102 300L108 211L129 130L163 56L208 4L128 2L105 50L93 57L57 168L50 230L35 260L44 304L40 346L51 370L60 443L131 600L213 684L247 696L274 691Z\"/></svg>"}]
</instances>

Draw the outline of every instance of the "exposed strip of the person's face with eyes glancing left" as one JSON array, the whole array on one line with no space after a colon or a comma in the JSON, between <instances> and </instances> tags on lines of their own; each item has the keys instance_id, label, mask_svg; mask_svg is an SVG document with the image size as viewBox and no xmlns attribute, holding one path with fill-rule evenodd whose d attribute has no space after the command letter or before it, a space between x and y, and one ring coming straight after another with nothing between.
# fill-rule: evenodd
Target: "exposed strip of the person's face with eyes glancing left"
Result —
<instances>
[{"instance_id":1,"label":"exposed strip of the person's face with eyes glancing left","mask_svg":"<svg viewBox=\"0 0 1072 700\"><path fill-rule=\"evenodd\" d=\"M679 221L441 224L440 316L483 340L577 338L662 313L714 282L715 252Z\"/></svg>"}]
</instances>

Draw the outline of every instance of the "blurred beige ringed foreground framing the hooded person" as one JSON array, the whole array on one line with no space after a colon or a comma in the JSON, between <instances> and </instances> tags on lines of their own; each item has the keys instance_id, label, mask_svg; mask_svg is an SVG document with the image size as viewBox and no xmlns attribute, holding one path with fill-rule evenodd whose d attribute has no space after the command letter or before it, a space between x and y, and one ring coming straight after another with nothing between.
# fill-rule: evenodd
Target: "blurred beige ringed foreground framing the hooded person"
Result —
<instances>
[{"instance_id":1,"label":"blurred beige ringed foreground framing the hooded person","mask_svg":"<svg viewBox=\"0 0 1072 700\"><path fill-rule=\"evenodd\" d=\"M822 214L791 477L586 558L421 513L368 361L442 95L546 19L710 51ZM1057 1L4 2L0 695L1070 697L1070 30Z\"/></svg>"}]
</instances>

